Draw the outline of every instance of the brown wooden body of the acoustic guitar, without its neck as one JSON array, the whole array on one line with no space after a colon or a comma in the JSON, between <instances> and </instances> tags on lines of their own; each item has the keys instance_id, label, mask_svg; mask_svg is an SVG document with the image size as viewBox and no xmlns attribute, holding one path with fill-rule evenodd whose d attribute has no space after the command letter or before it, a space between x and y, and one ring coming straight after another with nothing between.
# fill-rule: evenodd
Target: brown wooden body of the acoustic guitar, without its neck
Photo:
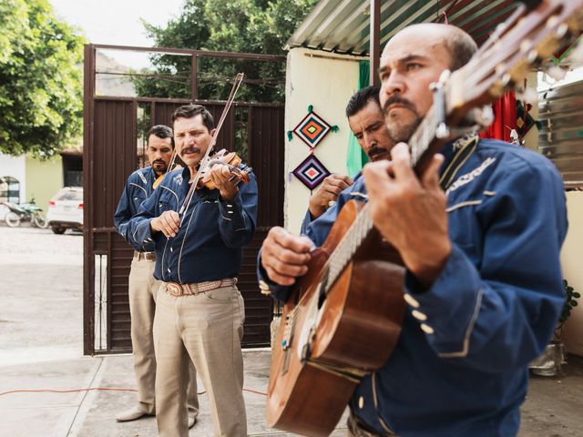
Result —
<instances>
[{"instance_id":1,"label":"brown wooden body of the acoustic guitar, without its neck","mask_svg":"<svg viewBox=\"0 0 583 437\"><path fill-rule=\"evenodd\" d=\"M341 210L308 273L283 308L272 348L267 423L304 435L328 435L365 372L383 366L404 317L404 268L373 229L327 294L327 261L362 202ZM332 287L330 287L332 285Z\"/></svg>"}]
</instances>

